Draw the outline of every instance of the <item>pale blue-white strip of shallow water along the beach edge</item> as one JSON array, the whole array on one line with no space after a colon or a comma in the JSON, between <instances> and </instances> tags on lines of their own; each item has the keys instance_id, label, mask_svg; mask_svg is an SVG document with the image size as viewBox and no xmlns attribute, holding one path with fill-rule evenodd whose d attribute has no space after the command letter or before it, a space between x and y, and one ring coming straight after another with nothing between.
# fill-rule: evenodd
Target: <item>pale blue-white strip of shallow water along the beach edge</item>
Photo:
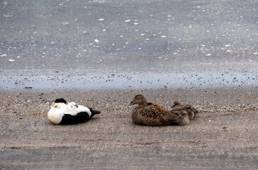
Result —
<instances>
[{"instance_id":1,"label":"pale blue-white strip of shallow water along the beach edge","mask_svg":"<svg viewBox=\"0 0 258 170\"><path fill-rule=\"evenodd\" d=\"M6 70L0 89L193 89L257 86L256 72L88 72Z\"/></svg>"}]
</instances>

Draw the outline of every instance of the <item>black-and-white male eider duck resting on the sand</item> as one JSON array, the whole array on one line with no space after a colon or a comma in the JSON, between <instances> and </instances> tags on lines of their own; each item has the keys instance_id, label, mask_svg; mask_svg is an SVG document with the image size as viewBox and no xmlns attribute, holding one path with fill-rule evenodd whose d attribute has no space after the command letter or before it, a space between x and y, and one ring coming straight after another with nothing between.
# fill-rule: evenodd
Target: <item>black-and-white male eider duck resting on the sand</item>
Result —
<instances>
[{"instance_id":1,"label":"black-and-white male eider duck resting on the sand","mask_svg":"<svg viewBox=\"0 0 258 170\"><path fill-rule=\"evenodd\" d=\"M47 118L56 125L69 125L86 122L95 114L100 114L100 111L93 111L92 108L74 102L67 103L64 98L57 98L52 103Z\"/></svg>"}]
</instances>

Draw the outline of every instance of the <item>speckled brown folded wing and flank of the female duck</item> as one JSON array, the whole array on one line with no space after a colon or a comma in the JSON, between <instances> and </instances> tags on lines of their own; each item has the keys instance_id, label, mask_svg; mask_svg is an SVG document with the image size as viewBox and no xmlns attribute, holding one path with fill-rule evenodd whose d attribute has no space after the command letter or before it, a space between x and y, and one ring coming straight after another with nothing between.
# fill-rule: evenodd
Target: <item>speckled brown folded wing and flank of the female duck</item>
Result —
<instances>
[{"instance_id":1,"label":"speckled brown folded wing and flank of the female duck","mask_svg":"<svg viewBox=\"0 0 258 170\"><path fill-rule=\"evenodd\" d=\"M142 125L170 125L173 121L177 120L161 114L153 107L141 108L136 114Z\"/></svg>"}]
</instances>

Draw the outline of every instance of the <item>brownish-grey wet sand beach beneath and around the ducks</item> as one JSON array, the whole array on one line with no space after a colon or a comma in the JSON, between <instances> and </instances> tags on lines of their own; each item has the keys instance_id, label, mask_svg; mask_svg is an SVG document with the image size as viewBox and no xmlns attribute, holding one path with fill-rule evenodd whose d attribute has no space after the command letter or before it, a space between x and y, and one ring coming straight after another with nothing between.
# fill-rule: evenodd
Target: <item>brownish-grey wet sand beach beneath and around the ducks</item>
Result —
<instances>
[{"instance_id":1,"label":"brownish-grey wet sand beach beneath and around the ducks","mask_svg":"<svg viewBox=\"0 0 258 170\"><path fill-rule=\"evenodd\" d=\"M200 113L185 126L131 123L134 95ZM47 120L55 98L102 113L78 125ZM257 169L257 88L1 90L0 169Z\"/></svg>"}]
</instances>

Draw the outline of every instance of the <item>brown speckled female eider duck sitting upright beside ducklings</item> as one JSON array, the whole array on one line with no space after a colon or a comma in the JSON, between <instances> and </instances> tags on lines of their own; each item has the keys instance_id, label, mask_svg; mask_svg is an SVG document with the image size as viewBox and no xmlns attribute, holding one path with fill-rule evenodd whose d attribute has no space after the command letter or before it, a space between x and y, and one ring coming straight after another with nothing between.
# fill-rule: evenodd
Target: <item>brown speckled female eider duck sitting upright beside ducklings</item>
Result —
<instances>
[{"instance_id":1,"label":"brown speckled female eider duck sitting upright beside ducklings","mask_svg":"<svg viewBox=\"0 0 258 170\"><path fill-rule=\"evenodd\" d=\"M167 109L155 103L147 103L146 98L139 94L136 95L129 103L129 106L138 104L133 108L131 120L137 125L175 125L175 121L179 118Z\"/></svg>"}]
</instances>

